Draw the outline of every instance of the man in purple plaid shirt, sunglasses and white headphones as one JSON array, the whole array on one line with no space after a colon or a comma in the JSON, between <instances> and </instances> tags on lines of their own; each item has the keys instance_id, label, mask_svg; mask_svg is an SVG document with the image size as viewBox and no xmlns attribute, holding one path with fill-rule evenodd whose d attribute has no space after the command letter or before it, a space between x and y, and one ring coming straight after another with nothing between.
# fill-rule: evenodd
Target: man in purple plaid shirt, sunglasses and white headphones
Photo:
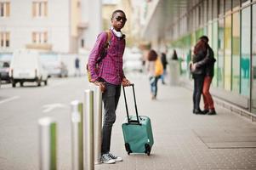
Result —
<instances>
[{"instance_id":1,"label":"man in purple plaid shirt, sunglasses and white headphones","mask_svg":"<svg viewBox=\"0 0 256 170\"><path fill-rule=\"evenodd\" d=\"M122 161L122 157L115 156L110 150L111 131L116 121L116 110L121 94L121 85L131 85L122 70L125 35L121 29L126 21L125 13L122 10L115 10L111 16L111 29L100 33L88 59L89 81L94 82L96 86L100 86L103 93L102 100L105 111L101 144L101 161L103 163ZM109 34L111 38L108 42Z\"/></svg>"}]
</instances>

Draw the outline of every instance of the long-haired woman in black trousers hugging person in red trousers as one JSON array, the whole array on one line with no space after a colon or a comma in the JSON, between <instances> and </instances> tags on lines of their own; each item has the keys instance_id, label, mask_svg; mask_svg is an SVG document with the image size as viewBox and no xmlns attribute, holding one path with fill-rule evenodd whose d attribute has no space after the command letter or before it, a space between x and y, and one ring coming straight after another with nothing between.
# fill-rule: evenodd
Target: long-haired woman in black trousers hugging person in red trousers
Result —
<instances>
[{"instance_id":1,"label":"long-haired woman in black trousers hugging person in red trousers","mask_svg":"<svg viewBox=\"0 0 256 170\"><path fill-rule=\"evenodd\" d=\"M205 76L205 66L196 67L195 64L205 59L207 55L207 43L202 39L196 43L194 54L191 63L191 73L194 79L194 92L193 92L193 113L204 114L200 109L200 100L202 94L202 86Z\"/></svg>"}]
</instances>

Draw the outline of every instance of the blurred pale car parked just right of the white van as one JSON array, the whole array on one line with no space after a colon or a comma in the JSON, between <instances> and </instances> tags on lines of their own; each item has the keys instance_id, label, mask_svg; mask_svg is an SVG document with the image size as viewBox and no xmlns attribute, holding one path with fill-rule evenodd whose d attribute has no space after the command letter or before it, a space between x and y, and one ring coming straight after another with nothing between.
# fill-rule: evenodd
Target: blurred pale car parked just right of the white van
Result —
<instances>
[{"instance_id":1,"label":"blurred pale car parked just right of the white van","mask_svg":"<svg viewBox=\"0 0 256 170\"><path fill-rule=\"evenodd\" d=\"M40 59L45 65L48 74L52 77L67 77L68 70L59 54L40 54Z\"/></svg>"}]
</instances>

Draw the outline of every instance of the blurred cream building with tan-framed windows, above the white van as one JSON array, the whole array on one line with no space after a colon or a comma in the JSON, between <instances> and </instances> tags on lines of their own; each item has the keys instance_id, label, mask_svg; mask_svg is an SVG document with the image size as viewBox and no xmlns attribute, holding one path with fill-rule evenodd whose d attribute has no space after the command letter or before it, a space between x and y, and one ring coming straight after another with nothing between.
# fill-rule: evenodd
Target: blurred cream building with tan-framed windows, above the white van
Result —
<instances>
[{"instance_id":1,"label":"blurred cream building with tan-framed windows, above the white van","mask_svg":"<svg viewBox=\"0 0 256 170\"><path fill-rule=\"evenodd\" d=\"M100 0L0 0L0 50L67 54L91 48L101 26L100 11Z\"/></svg>"}]
</instances>

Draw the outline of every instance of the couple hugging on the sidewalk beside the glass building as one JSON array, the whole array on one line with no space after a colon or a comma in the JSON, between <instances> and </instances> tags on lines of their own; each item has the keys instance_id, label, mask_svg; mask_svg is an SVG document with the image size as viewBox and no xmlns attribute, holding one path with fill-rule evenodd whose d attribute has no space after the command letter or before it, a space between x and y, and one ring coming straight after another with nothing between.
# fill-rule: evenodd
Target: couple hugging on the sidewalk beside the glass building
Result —
<instances>
[{"instance_id":1,"label":"couple hugging on the sidewalk beside the glass building","mask_svg":"<svg viewBox=\"0 0 256 170\"><path fill-rule=\"evenodd\" d=\"M209 93L214 75L213 49L208 45L208 37L202 36L196 43L190 65L194 79L193 113L198 115L216 115L212 95ZM203 97L204 110L200 109L201 94Z\"/></svg>"}]
</instances>

